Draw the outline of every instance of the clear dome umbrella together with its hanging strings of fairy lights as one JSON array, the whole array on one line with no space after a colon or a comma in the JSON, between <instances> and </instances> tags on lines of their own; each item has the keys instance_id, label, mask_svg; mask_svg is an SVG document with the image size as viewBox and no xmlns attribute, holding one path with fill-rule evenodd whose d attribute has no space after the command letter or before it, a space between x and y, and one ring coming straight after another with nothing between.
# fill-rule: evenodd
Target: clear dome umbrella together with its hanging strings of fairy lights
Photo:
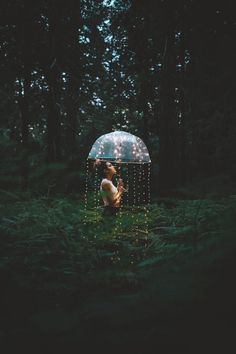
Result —
<instances>
[{"instance_id":1,"label":"clear dome umbrella together with its hanging strings of fairy lights","mask_svg":"<svg viewBox=\"0 0 236 354\"><path fill-rule=\"evenodd\" d=\"M126 207L139 208L143 205L142 220L143 230L142 235L148 235L148 213L150 205L150 166L151 159L148 149L142 139L139 137L124 132L115 131L100 136L93 144L87 158L86 172L86 188L85 188L85 210L88 204L88 175L89 175L89 160L110 161L117 164L117 175L115 179L121 178L124 182L126 193L121 199L120 210ZM99 206L102 203L100 195L101 176L98 175L96 164L94 165L94 210L98 212ZM140 210L141 212L141 210ZM86 215L86 214L85 214ZM97 215L97 214L96 214ZM119 213L119 218L116 219L116 232L122 230L121 222L122 212ZM140 225L140 214L136 213L132 220L134 224ZM86 223L86 217L85 217ZM99 231L97 230L99 235ZM96 236L95 236L96 237ZM137 239L138 234L135 231Z\"/></svg>"}]
</instances>

